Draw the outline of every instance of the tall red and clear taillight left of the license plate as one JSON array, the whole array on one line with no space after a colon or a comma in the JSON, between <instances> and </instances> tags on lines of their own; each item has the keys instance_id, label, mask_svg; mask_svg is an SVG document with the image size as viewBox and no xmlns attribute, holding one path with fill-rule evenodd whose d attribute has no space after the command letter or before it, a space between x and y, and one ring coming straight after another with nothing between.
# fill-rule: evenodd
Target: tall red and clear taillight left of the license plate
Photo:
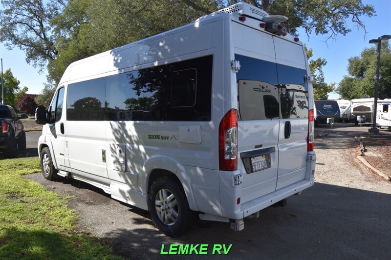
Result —
<instances>
[{"instance_id":1,"label":"tall red and clear taillight left of the license plate","mask_svg":"<svg viewBox=\"0 0 391 260\"><path fill-rule=\"evenodd\" d=\"M238 111L231 109L218 127L218 162L221 171L238 168Z\"/></svg>"}]
</instances>

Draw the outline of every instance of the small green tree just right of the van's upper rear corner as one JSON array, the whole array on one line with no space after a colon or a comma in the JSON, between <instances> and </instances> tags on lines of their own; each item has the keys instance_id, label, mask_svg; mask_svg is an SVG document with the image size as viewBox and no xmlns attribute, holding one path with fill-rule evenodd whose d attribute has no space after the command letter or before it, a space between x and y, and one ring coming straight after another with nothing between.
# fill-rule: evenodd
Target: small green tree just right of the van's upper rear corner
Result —
<instances>
[{"instance_id":1,"label":"small green tree just right of the van's upper rear corner","mask_svg":"<svg viewBox=\"0 0 391 260\"><path fill-rule=\"evenodd\" d=\"M327 64L326 59L318 58L316 60L310 60L312 57L312 49L307 49L304 45L304 49L307 55L307 59L309 60L309 69L311 74L314 76L314 80L312 82L313 90L314 90L314 100L327 100L328 93L334 90L335 83L327 84L325 82L325 75L323 73L323 66Z\"/></svg>"}]
</instances>

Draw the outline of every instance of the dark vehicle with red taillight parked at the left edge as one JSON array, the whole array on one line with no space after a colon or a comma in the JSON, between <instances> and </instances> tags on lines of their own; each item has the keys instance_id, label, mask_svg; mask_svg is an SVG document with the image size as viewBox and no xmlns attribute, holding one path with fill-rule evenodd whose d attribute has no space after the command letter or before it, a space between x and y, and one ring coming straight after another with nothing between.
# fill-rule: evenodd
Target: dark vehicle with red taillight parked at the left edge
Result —
<instances>
[{"instance_id":1,"label":"dark vehicle with red taillight parked at the left edge","mask_svg":"<svg viewBox=\"0 0 391 260\"><path fill-rule=\"evenodd\" d=\"M8 105L0 105L0 152L4 158L13 158L18 150L26 149L26 133L15 110Z\"/></svg>"}]
</instances>

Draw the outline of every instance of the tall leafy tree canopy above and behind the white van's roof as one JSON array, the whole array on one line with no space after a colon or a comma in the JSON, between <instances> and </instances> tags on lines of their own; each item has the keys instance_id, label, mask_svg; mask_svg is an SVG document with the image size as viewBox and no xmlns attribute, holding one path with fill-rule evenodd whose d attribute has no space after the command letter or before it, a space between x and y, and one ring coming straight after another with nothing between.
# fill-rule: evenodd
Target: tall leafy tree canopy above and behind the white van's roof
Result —
<instances>
[{"instance_id":1,"label":"tall leafy tree canopy above and behind the white van's roof","mask_svg":"<svg viewBox=\"0 0 391 260\"><path fill-rule=\"evenodd\" d=\"M3 0L0 41L18 46L27 62L47 64L57 85L73 61L190 23L239 0ZM347 20L365 25L374 9L361 0L245 0L270 15L285 15L292 34L335 39L350 32ZM34 8L33 8L34 7ZM320 80L322 78L319 72Z\"/></svg>"}]
</instances>

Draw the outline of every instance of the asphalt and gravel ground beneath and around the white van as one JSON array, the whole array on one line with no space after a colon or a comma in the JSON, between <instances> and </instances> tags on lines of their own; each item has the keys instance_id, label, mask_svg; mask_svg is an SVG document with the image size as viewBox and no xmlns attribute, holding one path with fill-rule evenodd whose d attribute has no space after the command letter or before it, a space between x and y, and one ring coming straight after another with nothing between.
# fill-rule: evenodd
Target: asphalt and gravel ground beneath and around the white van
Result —
<instances>
[{"instance_id":1,"label":"asphalt and gravel ground beneath and around the white van","mask_svg":"<svg viewBox=\"0 0 391 260\"><path fill-rule=\"evenodd\" d=\"M158 259L162 244L232 244L230 259L391 259L391 183L355 159L357 130L317 128L314 187L246 219L243 231L227 223L200 222L178 239L160 234L147 211L116 200L76 180L44 180L79 212L81 232L102 238L129 259ZM215 256L204 256L212 259ZM184 258L185 256L178 256ZM186 256L197 258L197 256ZM170 256L170 258L173 258Z\"/></svg>"}]
</instances>

